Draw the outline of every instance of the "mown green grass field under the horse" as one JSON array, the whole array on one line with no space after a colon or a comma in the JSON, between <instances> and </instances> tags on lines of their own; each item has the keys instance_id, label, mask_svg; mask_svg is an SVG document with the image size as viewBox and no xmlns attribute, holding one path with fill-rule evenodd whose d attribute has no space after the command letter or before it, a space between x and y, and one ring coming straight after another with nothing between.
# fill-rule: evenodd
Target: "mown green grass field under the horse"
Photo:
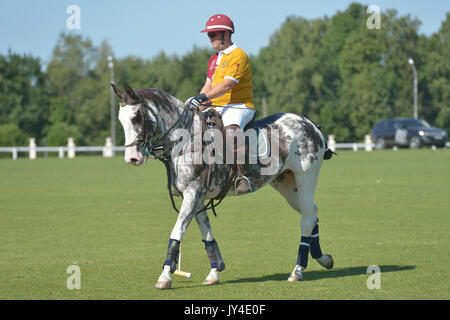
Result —
<instances>
[{"instance_id":1,"label":"mown green grass field under the horse","mask_svg":"<svg viewBox=\"0 0 450 320\"><path fill-rule=\"evenodd\" d=\"M171 290L153 286L176 220L165 169L122 157L0 160L0 299L449 299L450 150L340 151L324 162L316 203L324 270L286 281L299 215L270 187L227 198L210 220L226 270L209 261L195 221ZM178 201L178 204L180 202ZM81 289L69 290L70 265ZM381 270L369 290L367 267Z\"/></svg>"}]
</instances>

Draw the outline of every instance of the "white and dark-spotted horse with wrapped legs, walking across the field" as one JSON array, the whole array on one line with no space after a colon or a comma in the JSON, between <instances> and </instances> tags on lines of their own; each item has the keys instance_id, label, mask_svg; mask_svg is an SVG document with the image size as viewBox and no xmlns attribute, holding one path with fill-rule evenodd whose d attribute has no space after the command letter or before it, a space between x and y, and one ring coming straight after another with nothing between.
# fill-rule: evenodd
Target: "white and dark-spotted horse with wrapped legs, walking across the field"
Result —
<instances>
[{"instance_id":1,"label":"white and dark-spotted horse with wrapped legs, walking across the field","mask_svg":"<svg viewBox=\"0 0 450 320\"><path fill-rule=\"evenodd\" d=\"M220 283L218 274L225 269L225 263L207 214L207 210L214 210L214 206L205 206L205 202L209 200L211 204L213 200L221 201L233 195L235 172L229 163L207 162L205 157L201 157L202 151L204 153L212 145L202 139L208 131L204 112L188 108L179 99L159 89L133 89L125 84L125 91L121 91L114 84L111 86L120 99L118 118L125 133L125 162L139 166L150 157L163 161L169 190L173 188L173 193L183 199L155 287L171 288L171 274L176 271L180 243L193 218L199 226L211 265L203 284ZM309 254L321 266L331 269L333 258L323 254L320 247L318 207L314 203L323 159L332 156L319 127L306 117L293 113L269 115L252 121L251 127L265 130L271 147L270 157L247 165L253 192L270 185L301 214L297 263L287 280L303 280ZM197 143L187 143L186 147L186 142L195 140ZM216 147L219 145L215 144ZM216 155L220 154L219 149ZM200 154L197 157L200 161L186 157L195 154Z\"/></svg>"}]
</instances>

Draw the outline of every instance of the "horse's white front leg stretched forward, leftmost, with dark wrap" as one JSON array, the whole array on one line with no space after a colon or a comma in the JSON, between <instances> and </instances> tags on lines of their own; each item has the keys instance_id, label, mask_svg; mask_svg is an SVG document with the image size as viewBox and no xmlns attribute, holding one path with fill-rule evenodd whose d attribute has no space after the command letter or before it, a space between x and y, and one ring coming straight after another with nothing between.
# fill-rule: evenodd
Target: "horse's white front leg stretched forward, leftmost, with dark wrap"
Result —
<instances>
[{"instance_id":1,"label":"horse's white front leg stretched forward, leftmost, with dark wrap","mask_svg":"<svg viewBox=\"0 0 450 320\"><path fill-rule=\"evenodd\" d=\"M167 256L163 263L163 271L155 285L158 289L168 289L171 287L172 278L170 277L170 274L174 273L177 267L181 239L195 213L199 210L200 204L203 203L203 199L199 196L199 192L194 189L184 191L183 197L183 203L180 208L180 213L178 214L177 222L170 235Z\"/></svg>"}]
</instances>

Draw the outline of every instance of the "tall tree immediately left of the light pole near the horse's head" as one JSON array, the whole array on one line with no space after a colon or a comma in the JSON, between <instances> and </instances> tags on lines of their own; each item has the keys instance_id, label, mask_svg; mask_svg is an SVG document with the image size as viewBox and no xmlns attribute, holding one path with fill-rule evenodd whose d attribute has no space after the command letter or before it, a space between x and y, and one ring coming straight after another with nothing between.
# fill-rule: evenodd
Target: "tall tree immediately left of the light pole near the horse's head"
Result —
<instances>
[{"instance_id":1,"label":"tall tree immediately left of the light pole near the horse's head","mask_svg":"<svg viewBox=\"0 0 450 320\"><path fill-rule=\"evenodd\" d=\"M55 91L51 124L75 125L77 144L101 145L110 135L110 76L107 57L111 47L95 47L81 35L61 33L47 66Z\"/></svg>"}]
</instances>

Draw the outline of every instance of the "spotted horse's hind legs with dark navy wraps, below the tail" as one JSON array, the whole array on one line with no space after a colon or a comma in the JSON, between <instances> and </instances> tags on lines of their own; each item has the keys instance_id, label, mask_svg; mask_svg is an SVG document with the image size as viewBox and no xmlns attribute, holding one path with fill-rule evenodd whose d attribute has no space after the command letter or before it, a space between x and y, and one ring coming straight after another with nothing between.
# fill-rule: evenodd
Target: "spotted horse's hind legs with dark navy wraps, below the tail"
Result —
<instances>
[{"instance_id":1,"label":"spotted horse's hind legs with dark navy wraps, below the tail","mask_svg":"<svg viewBox=\"0 0 450 320\"><path fill-rule=\"evenodd\" d=\"M294 175L290 170L285 171L273 183L274 187L288 201L289 205L301 213L301 240L297 256L297 264L289 277L289 281L303 279L303 270L308 265L308 255L324 267L332 267L332 258L323 255L319 243L319 229L317 224L317 206L314 204L314 192L317 185L317 172Z\"/></svg>"}]
</instances>

